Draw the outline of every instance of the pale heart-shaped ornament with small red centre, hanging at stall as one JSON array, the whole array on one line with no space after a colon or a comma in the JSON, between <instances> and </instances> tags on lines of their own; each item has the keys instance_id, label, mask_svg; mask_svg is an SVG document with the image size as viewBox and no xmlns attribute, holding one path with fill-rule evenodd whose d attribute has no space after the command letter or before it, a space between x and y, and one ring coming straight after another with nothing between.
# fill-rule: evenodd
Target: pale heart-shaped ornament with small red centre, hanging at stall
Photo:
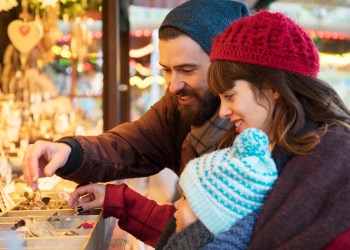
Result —
<instances>
[{"instance_id":1,"label":"pale heart-shaped ornament with small red centre, hanging at stall","mask_svg":"<svg viewBox=\"0 0 350 250\"><path fill-rule=\"evenodd\" d=\"M13 46L26 54L31 51L43 36L41 24L35 21L14 20L7 27L7 34Z\"/></svg>"}]
</instances>

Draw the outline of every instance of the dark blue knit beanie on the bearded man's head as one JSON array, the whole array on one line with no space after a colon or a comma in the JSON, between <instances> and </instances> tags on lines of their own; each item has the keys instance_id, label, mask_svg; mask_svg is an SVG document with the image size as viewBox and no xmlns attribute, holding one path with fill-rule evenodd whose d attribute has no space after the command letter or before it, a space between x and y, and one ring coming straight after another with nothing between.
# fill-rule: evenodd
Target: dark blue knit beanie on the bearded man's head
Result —
<instances>
[{"instance_id":1,"label":"dark blue knit beanie on the bearded man's head","mask_svg":"<svg viewBox=\"0 0 350 250\"><path fill-rule=\"evenodd\" d=\"M209 54L212 40L233 21L250 15L242 3L231 0L190 0L171 10L160 25L187 34Z\"/></svg>"}]
</instances>

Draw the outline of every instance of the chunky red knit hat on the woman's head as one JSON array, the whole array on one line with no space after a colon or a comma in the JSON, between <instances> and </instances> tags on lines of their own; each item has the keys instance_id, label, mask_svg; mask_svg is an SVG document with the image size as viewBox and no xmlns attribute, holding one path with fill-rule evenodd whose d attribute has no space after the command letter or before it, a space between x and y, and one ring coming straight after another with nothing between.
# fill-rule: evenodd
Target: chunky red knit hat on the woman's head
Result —
<instances>
[{"instance_id":1,"label":"chunky red knit hat on the woman's head","mask_svg":"<svg viewBox=\"0 0 350 250\"><path fill-rule=\"evenodd\" d=\"M294 21L266 10L231 23L212 45L210 60L258 64L317 76L315 43Z\"/></svg>"}]
</instances>

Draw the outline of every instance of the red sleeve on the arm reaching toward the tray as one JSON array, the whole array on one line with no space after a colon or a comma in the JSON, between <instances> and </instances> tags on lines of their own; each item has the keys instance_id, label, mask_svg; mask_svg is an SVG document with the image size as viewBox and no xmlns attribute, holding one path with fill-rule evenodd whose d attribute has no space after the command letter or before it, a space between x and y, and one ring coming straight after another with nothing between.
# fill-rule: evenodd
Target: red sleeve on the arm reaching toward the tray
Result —
<instances>
[{"instance_id":1,"label":"red sleeve on the arm reaching toward the tray","mask_svg":"<svg viewBox=\"0 0 350 250\"><path fill-rule=\"evenodd\" d=\"M106 185L103 216L113 216L121 229L155 247L174 213L172 205L158 205L127 185Z\"/></svg>"}]
</instances>

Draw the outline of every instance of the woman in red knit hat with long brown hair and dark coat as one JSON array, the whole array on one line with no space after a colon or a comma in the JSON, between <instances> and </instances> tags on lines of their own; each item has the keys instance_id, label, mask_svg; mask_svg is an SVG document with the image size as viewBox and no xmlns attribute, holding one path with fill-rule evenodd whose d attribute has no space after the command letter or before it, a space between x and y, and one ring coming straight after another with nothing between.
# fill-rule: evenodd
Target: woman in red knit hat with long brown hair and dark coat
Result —
<instances>
[{"instance_id":1,"label":"woman in red knit hat with long brown hair and dark coat","mask_svg":"<svg viewBox=\"0 0 350 250\"><path fill-rule=\"evenodd\" d=\"M325 247L350 228L350 112L316 78L315 44L285 15L262 11L231 24L210 58L209 86L231 138L262 129L279 171L249 249Z\"/></svg>"}]
</instances>

